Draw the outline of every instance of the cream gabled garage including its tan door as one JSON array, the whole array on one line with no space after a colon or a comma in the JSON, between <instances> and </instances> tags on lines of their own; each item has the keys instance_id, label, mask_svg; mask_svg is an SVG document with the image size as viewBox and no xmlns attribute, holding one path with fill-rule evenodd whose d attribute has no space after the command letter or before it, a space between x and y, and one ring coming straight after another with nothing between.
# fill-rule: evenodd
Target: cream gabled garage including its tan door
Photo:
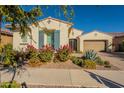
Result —
<instances>
[{"instance_id":1,"label":"cream gabled garage including its tan door","mask_svg":"<svg viewBox=\"0 0 124 93\"><path fill-rule=\"evenodd\" d=\"M83 34L80 37L80 50L111 51L112 39L111 35L99 31Z\"/></svg>"}]
</instances>

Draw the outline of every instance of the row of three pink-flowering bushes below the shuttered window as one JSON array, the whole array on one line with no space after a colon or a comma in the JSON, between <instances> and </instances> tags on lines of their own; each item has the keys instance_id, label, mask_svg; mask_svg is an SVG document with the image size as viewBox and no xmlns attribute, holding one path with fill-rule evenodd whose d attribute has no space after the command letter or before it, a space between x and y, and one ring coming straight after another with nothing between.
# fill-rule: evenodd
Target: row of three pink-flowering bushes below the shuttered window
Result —
<instances>
[{"instance_id":1,"label":"row of three pink-flowering bushes below the shuttered window","mask_svg":"<svg viewBox=\"0 0 124 93\"><path fill-rule=\"evenodd\" d=\"M58 60L64 62L69 59L70 54L72 53L72 49L69 45L61 46L58 50L56 50L57 53L54 53L54 51L55 49L50 45L45 45L40 49L36 49L32 45L27 46L29 58L39 57L42 62L49 62L53 55L55 55L55 58Z\"/></svg>"}]
</instances>

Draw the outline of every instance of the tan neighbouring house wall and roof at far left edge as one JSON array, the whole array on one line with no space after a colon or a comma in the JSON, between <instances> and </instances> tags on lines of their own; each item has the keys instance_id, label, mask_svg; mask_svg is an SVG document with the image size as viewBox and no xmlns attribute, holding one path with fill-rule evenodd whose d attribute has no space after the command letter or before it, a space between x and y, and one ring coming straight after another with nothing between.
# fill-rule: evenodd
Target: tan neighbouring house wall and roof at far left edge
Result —
<instances>
[{"instance_id":1,"label":"tan neighbouring house wall and roof at far left edge","mask_svg":"<svg viewBox=\"0 0 124 93\"><path fill-rule=\"evenodd\" d=\"M13 34L9 30L1 31L1 44L12 44L13 43Z\"/></svg>"}]
</instances>

